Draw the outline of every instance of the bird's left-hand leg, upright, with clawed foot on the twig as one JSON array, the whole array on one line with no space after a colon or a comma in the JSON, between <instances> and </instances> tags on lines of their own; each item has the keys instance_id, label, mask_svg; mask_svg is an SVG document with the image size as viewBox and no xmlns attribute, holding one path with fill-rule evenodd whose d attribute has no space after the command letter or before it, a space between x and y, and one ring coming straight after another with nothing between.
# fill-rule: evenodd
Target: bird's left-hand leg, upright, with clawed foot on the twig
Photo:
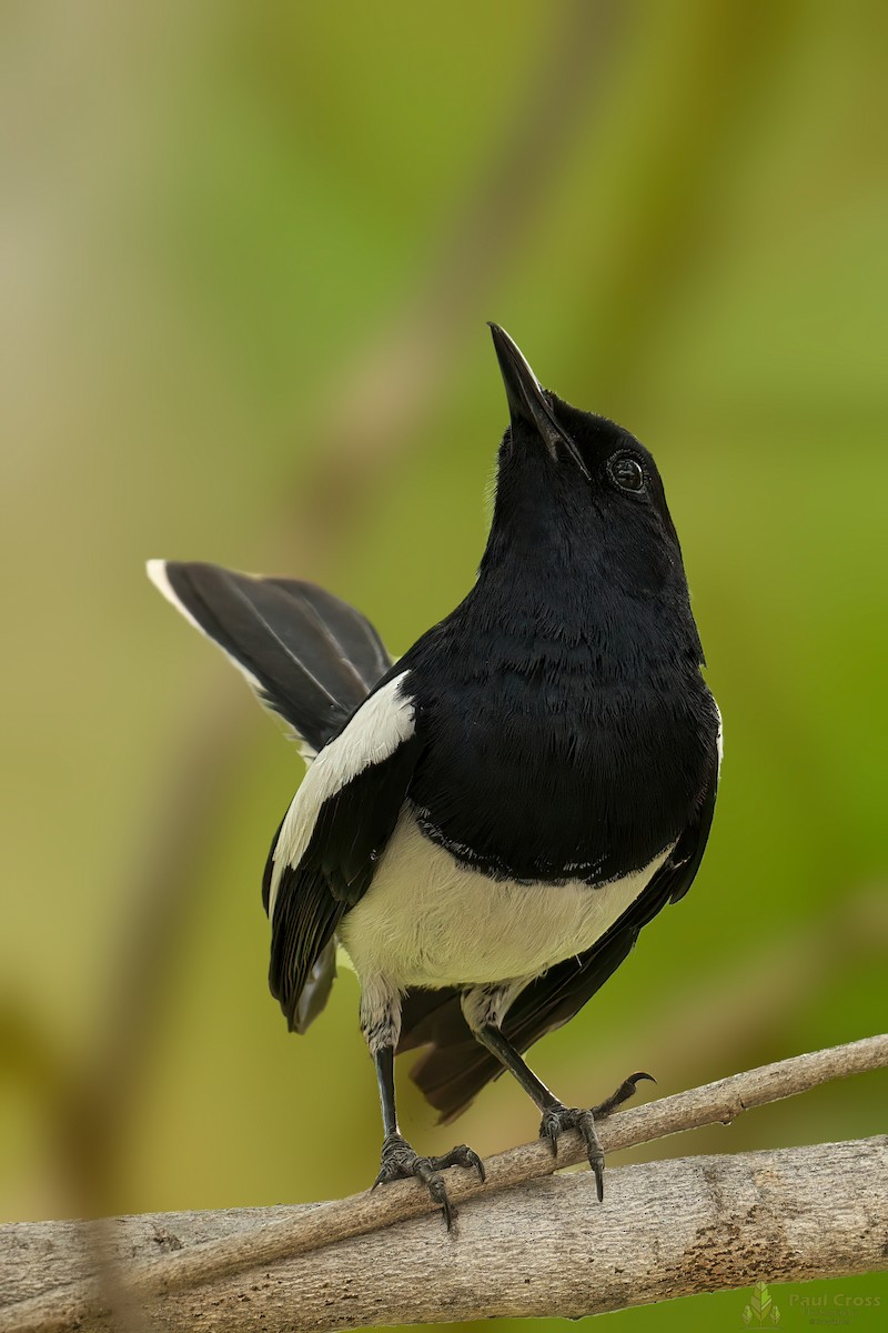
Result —
<instances>
[{"instance_id":1,"label":"bird's left-hand leg, upright, with clawed foot on the twig","mask_svg":"<svg viewBox=\"0 0 888 1333\"><path fill-rule=\"evenodd\" d=\"M361 994L361 1026L377 1066L382 1132L385 1134L379 1174L373 1182L373 1189L390 1180L414 1177L422 1181L431 1200L441 1206L447 1230L450 1230L455 1212L438 1172L447 1166L471 1166L483 1181L483 1162L465 1144L451 1148L443 1157L419 1157L398 1129L394 1097L394 1049L401 1033L401 1000L397 990L382 984L365 986Z\"/></svg>"}]
</instances>

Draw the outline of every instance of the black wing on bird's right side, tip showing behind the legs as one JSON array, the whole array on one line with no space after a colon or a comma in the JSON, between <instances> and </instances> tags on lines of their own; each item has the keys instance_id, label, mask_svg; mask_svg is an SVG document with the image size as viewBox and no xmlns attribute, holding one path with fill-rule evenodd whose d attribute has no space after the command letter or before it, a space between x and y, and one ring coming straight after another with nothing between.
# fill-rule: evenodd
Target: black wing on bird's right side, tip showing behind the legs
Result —
<instances>
[{"instance_id":1,"label":"black wing on bird's right side, tip showing behind the legs","mask_svg":"<svg viewBox=\"0 0 888 1333\"><path fill-rule=\"evenodd\" d=\"M503 1034L518 1050L527 1050L547 1032L572 1018L623 962L642 926L667 902L676 902L687 893L706 849L716 789L718 761L712 765L696 820L679 837L632 906L591 949L550 968L521 992L502 1024ZM417 992L415 997L405 998L398 1049L426 1044L430 1049L413 1066L410 1077L441 1112L442 1121L455 1118L485 1084L502 1073L495 1057L473 1038L457 990L439 996Z\"/></svg>"}]
</instances>

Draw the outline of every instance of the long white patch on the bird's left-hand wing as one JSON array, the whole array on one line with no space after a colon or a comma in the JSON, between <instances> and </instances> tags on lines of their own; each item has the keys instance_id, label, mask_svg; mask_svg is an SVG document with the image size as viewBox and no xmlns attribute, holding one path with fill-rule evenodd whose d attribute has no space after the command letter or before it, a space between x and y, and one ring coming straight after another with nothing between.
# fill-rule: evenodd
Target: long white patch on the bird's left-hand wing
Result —
<instances>
[{"instance_id":1,"label":"long white patch on the bird's left-hand wing","mask_svg":"<svg viewBox=\"0 0 888 1333\"><path fill-rule=\"evenodd\" d=\"M414 704L403 693L405 670L361 704L347 725L317 756L286 812L274 846L269 920L285 865L297 866L312 841L321 806L354 777L382 764L415 730Z\"/></svg>"}]
</instances>

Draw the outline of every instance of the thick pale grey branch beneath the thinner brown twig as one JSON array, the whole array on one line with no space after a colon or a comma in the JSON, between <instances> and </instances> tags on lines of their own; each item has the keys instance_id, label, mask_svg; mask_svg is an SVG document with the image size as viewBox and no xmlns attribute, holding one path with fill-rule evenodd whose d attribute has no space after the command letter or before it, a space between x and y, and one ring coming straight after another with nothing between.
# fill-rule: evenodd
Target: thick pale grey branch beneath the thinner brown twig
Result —
<instances>
[{"instance_id":1,"label":"thick pale grey branch beneath the thinner brown twig","mask_svg":"<svg viewBox=\"0 0 888 1333\"><path fill-rule=\"evenodd\" d=\"M150 1296L138 1313L146 1328L176 1333L332 1333L497 1316L576 1318L762 1280L865 1273L885 1264L887 1158L888 1140L872 1138L648 1162L611 1170L603 1205L586 1172L538 1178L463 1205L455 1236L437 1217L417 1217L272 1268ZM113 1248L122 1262L180 1245L189 1253L220 1237L249 1242L270 1213L298 1229L320 1212L120 1218ZM56 1280L71 1278L83 1225L17 1226L13 1253L32 1274L52 1268ZM0 1298L7 1294L0 1289ZM36 1326L20 1322L16 1306L3 1322ZM111 1326L107 1316L89 1322Z\"/></svg>"}]
</instances>

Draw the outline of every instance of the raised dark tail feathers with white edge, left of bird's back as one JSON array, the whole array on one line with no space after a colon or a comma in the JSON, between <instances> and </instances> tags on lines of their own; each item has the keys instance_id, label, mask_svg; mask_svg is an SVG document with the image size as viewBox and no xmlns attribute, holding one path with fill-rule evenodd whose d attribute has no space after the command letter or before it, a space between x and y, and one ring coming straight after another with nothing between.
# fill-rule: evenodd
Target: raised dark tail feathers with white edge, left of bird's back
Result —
<instances>
[{"instance_id":1,"label":"raised dark tail feathers with white edge, left of bird's back","mask_svg":"<svg viewBox=\"0 0 888 1333\"><path fill-rule=\"evenodd\" d=\"M373 625L314 584L178 560L149 560L148 573L261 702L296 728L306 757L335 736L391 665Z\"/></svg>"}]
</instances>

